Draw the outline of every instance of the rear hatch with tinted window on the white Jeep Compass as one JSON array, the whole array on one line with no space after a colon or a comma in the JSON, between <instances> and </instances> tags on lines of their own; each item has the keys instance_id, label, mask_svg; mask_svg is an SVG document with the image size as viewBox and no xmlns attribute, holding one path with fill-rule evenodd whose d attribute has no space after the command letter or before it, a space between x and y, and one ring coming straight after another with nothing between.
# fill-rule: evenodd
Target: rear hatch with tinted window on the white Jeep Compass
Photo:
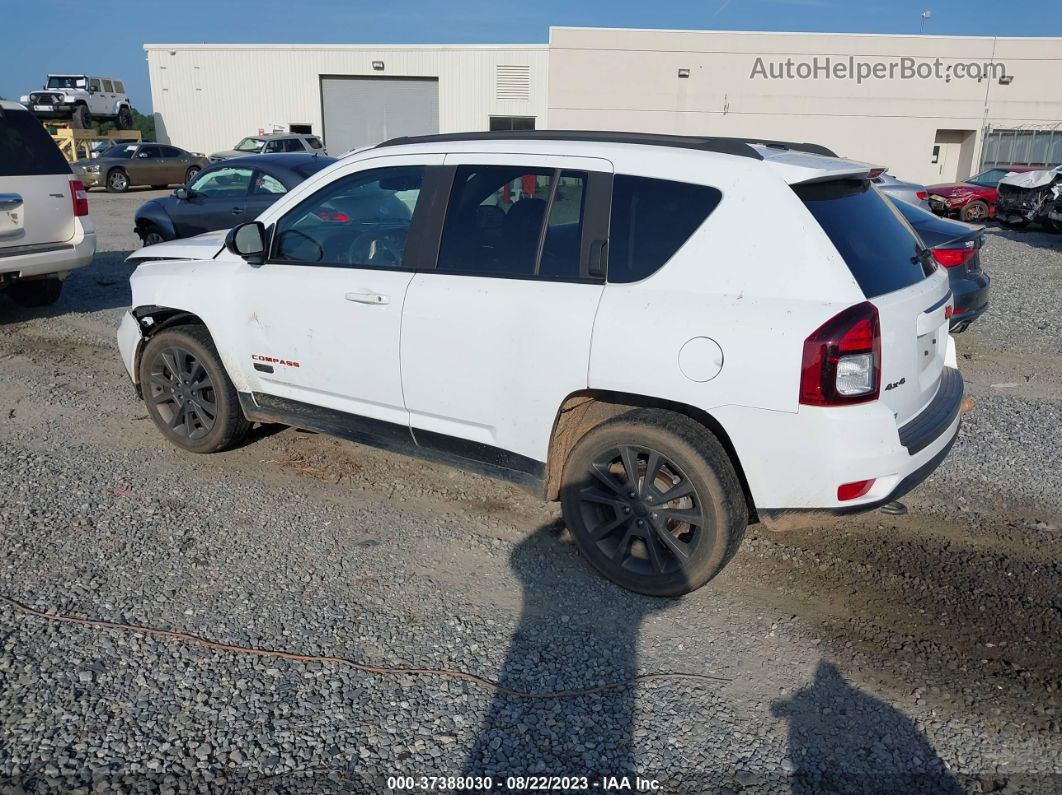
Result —
<instances>
[{"instance_id":1,"label":"rear hatch with tinted window on the white Jeep Compass","mask_svg":"<svg viewBox=\"0 0 1062 795\"><path fill-rule=\"evenodd\" d=\"M953 307L948 279L896 207L866 178L794 185L881 327L880 400L903 426L936 396Z\"/></svg>"}]
</instances>

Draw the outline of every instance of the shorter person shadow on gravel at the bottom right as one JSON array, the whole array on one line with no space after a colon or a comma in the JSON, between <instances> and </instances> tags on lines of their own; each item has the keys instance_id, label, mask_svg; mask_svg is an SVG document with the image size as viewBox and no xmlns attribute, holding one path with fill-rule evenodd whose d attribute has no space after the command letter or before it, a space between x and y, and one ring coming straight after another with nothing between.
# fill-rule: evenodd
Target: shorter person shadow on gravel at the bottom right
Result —
<instances>
[{"instance_id":1,"label":"shorter person shadow on gravel at the bottom right","mask_svg":"<svg viewBox=\"0 0 1062 795\"><path fill-rule=\"evenodd\" d=\"M789 722L790 785L807 793L965 792L903 712L819 662L812 681L771 704Z\"/></svg>"}]
</instances>

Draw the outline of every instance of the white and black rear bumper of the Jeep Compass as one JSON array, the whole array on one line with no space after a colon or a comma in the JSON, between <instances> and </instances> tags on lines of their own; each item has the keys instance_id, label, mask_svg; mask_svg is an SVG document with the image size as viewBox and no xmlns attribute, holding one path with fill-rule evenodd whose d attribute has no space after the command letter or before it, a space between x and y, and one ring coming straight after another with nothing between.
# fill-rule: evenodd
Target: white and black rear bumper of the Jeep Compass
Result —
<instances>
[{"instance_id":1,"label":"white and black rear bumper of the Jeep Compass","mask_svg":"<svg viewBox=\"0 0 1062 795\"><path fill-rule=\"evenodd\" d=\"M963 386L954 366L944 373L937 397L903 428L881 401L796 413L723 407L713 416L731 438L760 517L859 513L906 494L947 454ZM838 486L871 479L864 496L837 499Z\"/></svg>"}]
</instances>

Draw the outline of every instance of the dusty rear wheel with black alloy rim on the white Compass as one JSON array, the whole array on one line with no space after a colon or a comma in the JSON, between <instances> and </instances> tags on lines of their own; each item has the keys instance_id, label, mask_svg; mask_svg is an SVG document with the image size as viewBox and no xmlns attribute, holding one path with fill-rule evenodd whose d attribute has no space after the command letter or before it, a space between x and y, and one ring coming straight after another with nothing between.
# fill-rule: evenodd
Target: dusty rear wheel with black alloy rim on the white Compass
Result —
<instances>
[{"instance_id":1,"label":"dusty rear wheel with black alloy rim on the white Compass","mask_svg":"<svg viewBox=\"0 0 1062 795\"><path fill-rule=\"evenodd\" d=\"M654 597L712 580L749 521L741 483L715 435L655 409L631 411L577 442L561 503L586 560L620 587Z\"/></svg>"}]
</instances>

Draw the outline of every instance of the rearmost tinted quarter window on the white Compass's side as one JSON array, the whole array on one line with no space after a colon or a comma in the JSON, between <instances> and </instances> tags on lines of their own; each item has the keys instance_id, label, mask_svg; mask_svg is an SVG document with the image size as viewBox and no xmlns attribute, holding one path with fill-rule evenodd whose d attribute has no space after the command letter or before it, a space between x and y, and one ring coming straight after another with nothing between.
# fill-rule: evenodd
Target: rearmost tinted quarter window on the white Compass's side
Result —
<instances>
[{"instance_id":1,"label":"rearmost tinted quarter window on the white Compass's side","mask_svg":"<svg viewBox=\"0 0 1062 795\"><path fill-rule=\"evenodd\" d=\"M705 185L617 174L609 225L609 281L639 281L674 255L722 198Z\"/></svg>"}]
</instances>

